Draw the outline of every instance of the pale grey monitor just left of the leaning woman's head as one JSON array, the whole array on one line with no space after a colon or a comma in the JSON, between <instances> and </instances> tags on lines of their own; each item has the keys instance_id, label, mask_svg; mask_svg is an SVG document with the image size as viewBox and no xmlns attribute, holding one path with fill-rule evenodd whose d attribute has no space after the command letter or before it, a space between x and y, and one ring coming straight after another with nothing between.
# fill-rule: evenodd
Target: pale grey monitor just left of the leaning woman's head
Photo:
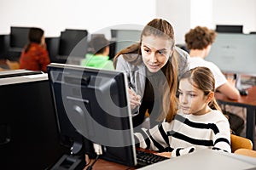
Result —
<instances>
[{"instance_id":1,"label":"pale grey monitor just left of the leaning woman's head","mask_svg":"<svg viewBox=\"0 0 256 170\"><path fill-rule=\"evenodd\" d=\"M121 49L137 43L141 38L141 30L111 30L111 37L115 42L115 54Z\"/></svg>"}]
</instances>

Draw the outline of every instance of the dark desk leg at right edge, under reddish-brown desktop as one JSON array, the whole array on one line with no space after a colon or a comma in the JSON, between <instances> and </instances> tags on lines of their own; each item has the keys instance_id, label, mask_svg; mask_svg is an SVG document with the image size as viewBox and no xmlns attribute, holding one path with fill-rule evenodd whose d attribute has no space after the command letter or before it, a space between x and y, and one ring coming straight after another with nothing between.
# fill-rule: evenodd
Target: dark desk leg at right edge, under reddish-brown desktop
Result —
<instances>
[{"instance_id":1,"label":"dark desk leg at right edge, under reddish-brown desktop","mask_svg":"<svg viewBox=\"0 0 256 170\"><path fill-rule=\"evenodd\" d=\"M247 139L252 140L254 150L256 149L254 145L255 115L256 115L256 108L248 106L247 107Z\"/></svg>"}]
</instances>

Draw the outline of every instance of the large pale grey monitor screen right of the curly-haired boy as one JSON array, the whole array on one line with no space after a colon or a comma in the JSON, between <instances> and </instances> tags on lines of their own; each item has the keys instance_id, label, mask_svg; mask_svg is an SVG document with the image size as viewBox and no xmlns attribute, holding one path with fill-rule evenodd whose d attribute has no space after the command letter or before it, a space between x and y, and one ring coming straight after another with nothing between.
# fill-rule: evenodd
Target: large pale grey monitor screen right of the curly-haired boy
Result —
<instances>
[{"instance_id":1,"label":"large pale grey monitor screen right of the curly-haired boy","mask_svg":"<svg viewBox=\"0 0 256 170\"><path fill-rule=\"evenodd\" d=\"M218 33L207 60L224 72L256 75L256 35Z\"/></svg>"}]
</instances>

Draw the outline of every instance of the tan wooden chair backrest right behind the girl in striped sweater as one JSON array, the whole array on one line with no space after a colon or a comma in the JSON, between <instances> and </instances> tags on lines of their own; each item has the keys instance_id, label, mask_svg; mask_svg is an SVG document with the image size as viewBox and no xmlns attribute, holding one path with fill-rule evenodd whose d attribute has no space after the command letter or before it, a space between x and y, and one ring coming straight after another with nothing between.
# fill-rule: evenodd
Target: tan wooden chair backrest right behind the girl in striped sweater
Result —
<instances>
[{"instance_id":1,"label":"tan wooden chair backrest right behind the girl in striped sweater","mask_svg":"<svg viewBox=\"0 0 256 170\"><path fill-rule=\"evenodd\" d=\"M241 148L253 150L253 142L250 139L246 139L241 136L236 136L235 134L231 134L230 137L232 153Z\"/></svg>"}]
</instances>

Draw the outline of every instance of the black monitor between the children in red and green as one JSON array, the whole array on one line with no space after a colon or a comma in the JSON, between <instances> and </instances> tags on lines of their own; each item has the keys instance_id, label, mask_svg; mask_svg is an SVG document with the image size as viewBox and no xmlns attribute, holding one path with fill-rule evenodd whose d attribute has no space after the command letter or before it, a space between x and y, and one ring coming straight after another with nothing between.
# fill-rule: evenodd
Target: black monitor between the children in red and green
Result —
<instances>
[{"instance_id":1,"label":"black monitor between the children in red and green","mask_svg":"<svg viewBox=\"0 0 256 170\"><path fill-rule=\"evenodd\" d=\"M59 55L84 57L87 50L87 35L86 30L61 31Z\"/></svg>"}]
</instances>

